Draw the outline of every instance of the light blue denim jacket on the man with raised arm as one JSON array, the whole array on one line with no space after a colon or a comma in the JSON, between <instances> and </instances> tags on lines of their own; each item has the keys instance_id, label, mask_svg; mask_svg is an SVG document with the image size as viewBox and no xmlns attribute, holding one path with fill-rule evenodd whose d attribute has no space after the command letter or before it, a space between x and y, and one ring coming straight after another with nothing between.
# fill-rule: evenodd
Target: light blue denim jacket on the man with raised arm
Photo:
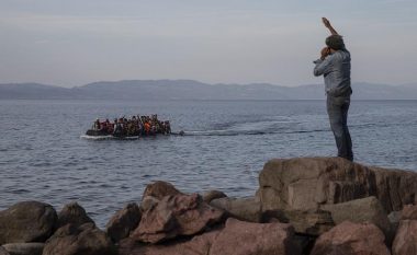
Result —
<instances>
[{"instance_id":1,"label":"light blue denim jacket on the man with raised arm","mask_svg":"<svg viewBox=\"0 0 417 255\"><path fill-rule=\"evenodd\" d=\"M314 61L314 76L325 77L327 95L348 96L352 94L350 88L350 53L347 49L337 50L328 55L325 60Z\"/></svg>"}]
</instances>

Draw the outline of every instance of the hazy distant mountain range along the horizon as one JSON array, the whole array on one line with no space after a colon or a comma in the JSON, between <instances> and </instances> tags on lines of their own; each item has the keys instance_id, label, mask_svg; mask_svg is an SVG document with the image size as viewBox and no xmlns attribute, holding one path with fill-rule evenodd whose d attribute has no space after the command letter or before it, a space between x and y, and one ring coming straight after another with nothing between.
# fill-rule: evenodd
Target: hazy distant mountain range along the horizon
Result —
<instances>
[{"instance_id":1,"label":"hazy distant mountain range along the horizon","mask_svg":"<svg viewBox=\"0 0 417 255\"><path fill-rule=\"evenodd\" d=\"M354 100L417 100L417 84L352 84ZM323 84L206 84L193 80L101 81L75 88L0 84L0 100L323 100Z\"/></svg>"}]
</instances>

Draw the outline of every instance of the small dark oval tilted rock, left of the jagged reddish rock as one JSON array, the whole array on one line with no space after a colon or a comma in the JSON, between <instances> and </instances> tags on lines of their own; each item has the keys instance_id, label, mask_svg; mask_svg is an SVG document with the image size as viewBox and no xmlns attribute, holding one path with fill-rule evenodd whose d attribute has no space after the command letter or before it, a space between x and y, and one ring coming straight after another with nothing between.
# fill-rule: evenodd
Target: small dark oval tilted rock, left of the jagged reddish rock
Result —
<instances>
[{"instance_id":1,"label":"small dark oval tilted rock, left of the jagged reddish rock","mask_svg":"<svg viewBox=\"0 0 417 255\"><path fill-rule=\"evenodd\" d=\"M139 207L135 202L128 204L110 219L105 227L106 233L113 242L117 243L137 228L140 218Z\"/></svg>"}]
</instances>

